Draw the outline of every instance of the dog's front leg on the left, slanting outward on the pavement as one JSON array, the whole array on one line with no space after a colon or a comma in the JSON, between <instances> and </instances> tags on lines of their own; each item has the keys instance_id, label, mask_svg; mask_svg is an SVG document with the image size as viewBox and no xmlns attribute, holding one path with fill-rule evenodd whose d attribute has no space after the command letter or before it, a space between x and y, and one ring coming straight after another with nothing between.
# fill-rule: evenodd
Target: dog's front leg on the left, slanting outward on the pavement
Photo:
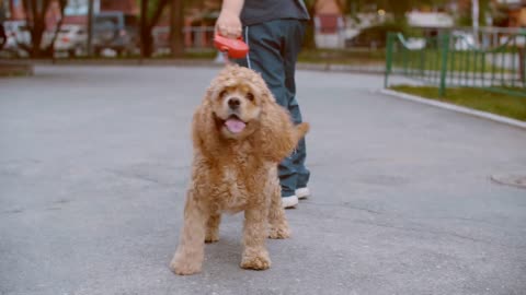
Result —
<instances>
[{"instance_id":1,"label":"dog's front leg on the left, slanting outward on the pavement","mask_svg":"<svg viewBox=\"0 0 526 295\"><path fill-rule=\"evenodd\" d=\"M170 269L176 274L201 272L205 247L206 212L193 190L188 191L184 206L184 225L178 250L170 262Z\"/></svg>"}]
</instances>

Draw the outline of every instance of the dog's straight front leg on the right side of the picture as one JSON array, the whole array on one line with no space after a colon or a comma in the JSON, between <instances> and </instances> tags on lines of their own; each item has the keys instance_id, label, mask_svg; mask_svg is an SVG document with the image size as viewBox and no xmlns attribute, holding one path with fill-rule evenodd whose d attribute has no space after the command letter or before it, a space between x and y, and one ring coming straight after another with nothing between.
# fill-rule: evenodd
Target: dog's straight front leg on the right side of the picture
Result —
<instances>
[{"instance_id":1,"label":"dog's straight front leg on the right side of the picture","mask_svg":"<svg viewBox=\"0 0 526 295\"><path fill-rule=\"evenodd\" d=\"M265 247L267 215L267 204L250 206L244 211L244 250L241 258L241 268L243 269L266 270L271 267L271 259Z\"/></svg>"}]
</instances>

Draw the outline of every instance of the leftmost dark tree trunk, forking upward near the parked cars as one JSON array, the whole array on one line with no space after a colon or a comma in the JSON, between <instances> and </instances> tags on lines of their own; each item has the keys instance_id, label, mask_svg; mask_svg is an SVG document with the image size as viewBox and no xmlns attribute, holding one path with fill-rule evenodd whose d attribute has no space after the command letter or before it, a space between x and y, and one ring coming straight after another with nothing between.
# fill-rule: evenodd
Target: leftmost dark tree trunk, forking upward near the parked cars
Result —
<instances>
[{"instance_id":1,"label":"leftmost dark tree trunk, forking upward near the parked cars","mask_svg":"<svg viewBox=\"0 0 526 295\"><path fill-rule=\"evenodd\" d=\"M46 48L42 48L42 37L46 31L46 13L49 10L53 0L22 0L24 8L27 30L31 34L31 44L21 44L20 46L25 49L32 58L41 58L53 52L53 45L56 38L57 32L60 28L62 22L64 9L68 1L57 1L60 8L60 20L55 30L52 43Z\"/></svg>"}]
</instances>

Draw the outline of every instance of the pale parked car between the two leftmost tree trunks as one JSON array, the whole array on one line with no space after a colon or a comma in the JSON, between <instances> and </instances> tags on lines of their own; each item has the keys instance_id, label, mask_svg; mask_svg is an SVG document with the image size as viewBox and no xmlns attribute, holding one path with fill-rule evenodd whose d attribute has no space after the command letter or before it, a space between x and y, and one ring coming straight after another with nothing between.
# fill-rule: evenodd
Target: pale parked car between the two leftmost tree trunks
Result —
<instances>
[{"instance_id":1,"label":"pale parked car between the two leftmost tree trunks","mask_svg":"<svg viewBox=\"0 0 526 295\"><path fill-rule=\"evenodd\" d=\"M61 25L55 39L55 52L67 52L69 57L87 54L88 32L82 25Z\"/></svg>"}]
</instances>

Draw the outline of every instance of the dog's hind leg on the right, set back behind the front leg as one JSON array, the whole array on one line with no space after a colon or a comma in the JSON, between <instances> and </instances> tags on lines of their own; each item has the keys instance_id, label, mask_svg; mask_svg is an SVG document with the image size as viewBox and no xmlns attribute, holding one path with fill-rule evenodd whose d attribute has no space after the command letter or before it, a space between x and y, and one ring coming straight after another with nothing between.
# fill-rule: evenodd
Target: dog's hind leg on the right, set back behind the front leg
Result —
<instances>
[{"instance_id":1,"label":"dog's hind leg on the right, set back behind the front leg","mask_svg":"<svg viewBox=\"0 0 526 295\"><path fill-rule=\"evenodd\" d=\"M288 238L290 237L290 229L287 219L285 217L285 210L282 206L282 193L277 181L274 187L271 196L271 209L268 211L268 237Z\"/></svg>"}]
</instances>

